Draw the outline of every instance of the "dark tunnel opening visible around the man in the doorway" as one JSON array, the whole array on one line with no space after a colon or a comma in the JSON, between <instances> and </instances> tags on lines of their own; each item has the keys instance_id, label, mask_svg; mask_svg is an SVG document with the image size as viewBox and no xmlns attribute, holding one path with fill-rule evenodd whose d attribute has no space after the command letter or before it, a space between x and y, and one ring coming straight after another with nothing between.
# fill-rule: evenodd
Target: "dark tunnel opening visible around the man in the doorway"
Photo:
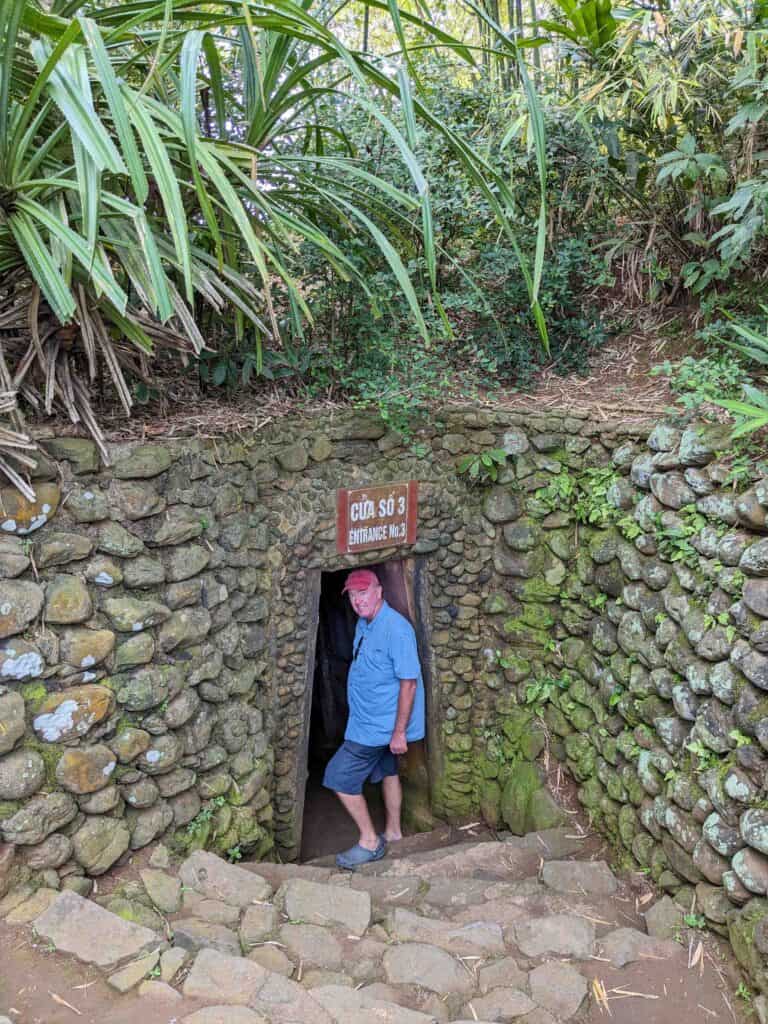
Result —
<instances>
[{"instance_id":1,"label":"dark tunnel opening visible around the man in the doorway","mask_svg":"<svg viewBox=\"0 0 768 1024\"><path fill-rule=\"evenodd\" d=\"M416 630L429 718L426 629L418 611L419 566L415 559L402 559L367 565L366 568L376 572L381 581L385 600L404 615ZM325 571L321 573L319 580L311 695L307 695L306 702L306 783L303 794L297 795L299 806L303 803L302 861L338 853L357 842L354 824L336 796L323 786L326 765L344 739L348 715L346 681L357 621L349 600L342 593L349 571L349 568ZM399 771L403 787L403 828L408 831L420 831L431 827L424 740L409 744L408 754L400 758ZM301 778L301 774L299 777ZM365 796L374 824L377 829L383 830L381 786L367 785Z\"/></svg>"}]
</instances>

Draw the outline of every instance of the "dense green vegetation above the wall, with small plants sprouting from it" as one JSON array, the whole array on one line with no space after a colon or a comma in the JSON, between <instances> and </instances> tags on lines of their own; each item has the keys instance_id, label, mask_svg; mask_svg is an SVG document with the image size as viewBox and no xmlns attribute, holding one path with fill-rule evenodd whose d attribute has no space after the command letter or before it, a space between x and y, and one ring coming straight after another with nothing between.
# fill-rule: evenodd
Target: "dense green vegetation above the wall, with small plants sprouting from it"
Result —
<instances>
[{"instance_id":1,"label":"dense green vegetation above the wall, with small plants sprouting from it","mask_svg":"<svg viewBox=\"0 0 768 1024\"><path fill-rule=\"evenodd\" d=\"M584 372L632 307L683 419L760 434L764 19L723 0L2 5L0 472L30 493L25 414L100 443L105 404L273 385L408 436L446 395ZM478 458L461 471L493 480ZM542 500L637 537L593 473Z\"/></svg>"}]
</instances>

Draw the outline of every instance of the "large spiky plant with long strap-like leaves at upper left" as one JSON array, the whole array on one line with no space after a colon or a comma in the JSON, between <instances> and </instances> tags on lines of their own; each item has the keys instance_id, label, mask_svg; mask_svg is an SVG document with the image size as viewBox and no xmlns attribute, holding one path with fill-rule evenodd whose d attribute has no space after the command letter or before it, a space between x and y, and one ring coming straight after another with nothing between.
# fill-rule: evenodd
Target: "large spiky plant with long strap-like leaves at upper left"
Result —
<instances>
[{"instance_id":1,"label":"large spiky plant with long strap-like leaves at upper left","mask_svg":"<svg viewBox=\"0 0 768 1024\"><path fill-rule=\"evenodd\" d=\"M391 13L391 3L371 3ZM25 436L20 396L82 422L105 458L89 399L97 376L106 372L129 413L126 368L145 372L164 348L199 353L204 306L228 315L232 333L250 324L257 344L279 331L275 283L292 314L310 317L286 269L286 253L300 243L367 289L334 241L367 233L426 335L397 220L387 213L421 211L434 284L415 119L450 137L502 223L509 188L411 94L406 75L391 79L351 52L325 14L314 0L0 4L0 326L3 309L14 319L0 336L0 413L13 410L13 437ZM400 38L403 24L416 23L469 58L427 22L395 20ZM377 101L381 93L402 104L404 135ZM359 205L354 181L364 172L325 153L316 109L328 95L382 124L409 168L410 193L367 175L374 199ZM303 150L295 144L302 136ZM17 482L8 460L23 469L28 457L3 437L0 455L0 472Z\"/></svg>"}]
</instances>

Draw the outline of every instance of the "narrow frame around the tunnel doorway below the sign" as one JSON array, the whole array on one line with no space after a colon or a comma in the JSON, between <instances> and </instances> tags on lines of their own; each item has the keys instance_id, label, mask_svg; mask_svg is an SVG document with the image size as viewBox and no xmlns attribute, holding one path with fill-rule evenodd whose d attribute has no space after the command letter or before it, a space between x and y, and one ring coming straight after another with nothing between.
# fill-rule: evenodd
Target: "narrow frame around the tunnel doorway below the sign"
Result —
<instances>
[{"instance_id":1,"label":"narrow frame around the tunnel doorway below the sign","mask_svg":"<svg viewBox=\"0 0 768 1024\"><path fill-rule=\"evenodd\" d=\"M373 556L374 552L370 552ZM413 624L416 633L416 647L419 652L422 679L424 681L424 713L426 719L427 771L429 774L429 801L432 806L432 786L438 777L440 756L438 750L437 715L435 714L436 694L434 693L434 669L432 664L432 648L429 638L432 634L432 623L429 604L429 573L427 560L418 555L407 555L403 558L385 558L375 561L372 557L369 564L377 565L385 562L403 562L406 578L412 586L416 623ZM307 572L306 603L309 622L314 628L308 631L306 643L306 658L304 662L304 697L301 710L301 732L297 744L296 758L296 799L294 802L294 842L300 856L301 842L304 833L304 804L306 783L309 775L307 759L309 757L309 729L312 714L312 690L314 687L314 657L317 649L317 626L319 622L319 601L323 589L323 573L337 572L339 569L352 571L354 568L365 568L365 564L338 567L321 567Z\"/></svg>"}]
</instances>

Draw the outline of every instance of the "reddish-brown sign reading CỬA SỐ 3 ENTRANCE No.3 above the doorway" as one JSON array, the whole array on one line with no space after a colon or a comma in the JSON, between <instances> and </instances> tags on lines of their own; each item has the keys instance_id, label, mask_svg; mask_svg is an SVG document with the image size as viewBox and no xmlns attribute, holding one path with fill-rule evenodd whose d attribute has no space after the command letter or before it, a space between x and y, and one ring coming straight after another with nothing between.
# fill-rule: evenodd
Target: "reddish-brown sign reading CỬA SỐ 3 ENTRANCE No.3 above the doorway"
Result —
<instances>
[{"instance_id":1,"label":"reddish-brown sign reading C\u1eecA S\u1ed0 3 ENTRANCE No.3 above the doorway","mask_svg":"<svg viewBox=\"0 0 768 1024\"><path fill-rule=\"evenodd\" d=\"M336 550L340 554L416 542L419 484L384 483L336 493Z\"/></svg>"}]
</instances>

